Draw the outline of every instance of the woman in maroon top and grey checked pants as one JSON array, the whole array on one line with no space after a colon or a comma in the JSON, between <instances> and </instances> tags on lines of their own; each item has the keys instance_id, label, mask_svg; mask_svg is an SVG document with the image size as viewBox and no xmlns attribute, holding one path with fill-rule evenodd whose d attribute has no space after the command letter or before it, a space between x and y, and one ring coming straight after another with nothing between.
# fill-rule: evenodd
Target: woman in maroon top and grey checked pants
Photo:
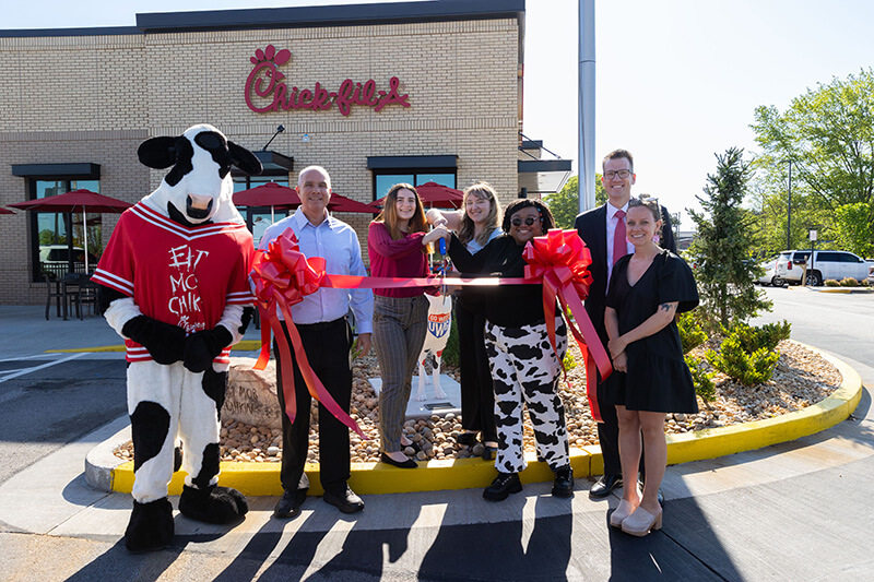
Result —
<instances>
[{"instance_id":1,"label":"woman in maroon top and grey checked pants","mask_svg":"<svg viewBox=\"0 0 874 582\"><path fill-rule=\"evenodd\" d=\"M422 277L428 274L427 245L449 236L440 226L426 233L425 210L415 188L409 183L391 187L386 205L370 223L367 252L375 277ZM403 453L413 447L401 432L413 371L425 343L428 301L423 287L374 289L373 343L379 361L382 388L379 391L380 459L402 468L415 468L415 461Z\"/></svg>"}]
</instances>

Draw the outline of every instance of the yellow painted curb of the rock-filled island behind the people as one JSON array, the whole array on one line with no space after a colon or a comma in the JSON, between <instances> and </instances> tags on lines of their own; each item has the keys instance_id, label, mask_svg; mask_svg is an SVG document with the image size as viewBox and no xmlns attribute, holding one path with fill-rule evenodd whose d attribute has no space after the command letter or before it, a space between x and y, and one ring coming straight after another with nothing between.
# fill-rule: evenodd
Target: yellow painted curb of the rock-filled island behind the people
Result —
<instances>
[{"instance_id":1,"label":"yellow painted curb of the rock-filled island behind the people","mask_svg":"<svg viewBox=\"0 0 874 582\"><path fill-rule=\"evenodd\" d=\"M862 399L862 378L845 361L815 347L808 345L804 347L817 352L840 371L843 380L840 388L830 396L803 411L775 418L668 435L668 463L714 459L795 440L832 427L850 416ZM525 460L528 468L520 474L522 483L552 480L553 473L548 465L539 462L534 453L527 453ZM604 471L601 448L571 447L570 464L575 477L601 475ZM316 464L306 465L310 484L309 495L312 496L322 494L318 467ZM218 484L225 487L234 487L253 497L282 495L279 463L222 463L221 471ZM494 463L480 459L458 459L420 463L415 470L397 468L383 463L352 463L352 476L349 483L358 494L378 495L485 487L494 477ZM181 494L184 478L184 472L174 474L169 495ZM130 492L132 487L133 462L122 463L113 470L114 491Z\"/></svg>"}]
</instances>

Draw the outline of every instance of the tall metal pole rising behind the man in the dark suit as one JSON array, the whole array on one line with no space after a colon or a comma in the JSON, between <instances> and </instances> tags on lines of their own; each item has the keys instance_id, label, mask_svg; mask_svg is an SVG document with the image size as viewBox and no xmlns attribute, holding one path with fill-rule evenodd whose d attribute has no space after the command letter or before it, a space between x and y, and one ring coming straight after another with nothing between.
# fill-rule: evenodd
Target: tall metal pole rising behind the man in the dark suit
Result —
<instances>
[{"instance_id":1,"label":"tall metal pole rising behind the man in the dark suit","mask_svg":"<svg viewBox=\"0 0 874 582\"><path fill-rule=\"evenodd\" d=\"M579 0L579 211L594 207L594 0Z\"/></svg>"}]
</instances>

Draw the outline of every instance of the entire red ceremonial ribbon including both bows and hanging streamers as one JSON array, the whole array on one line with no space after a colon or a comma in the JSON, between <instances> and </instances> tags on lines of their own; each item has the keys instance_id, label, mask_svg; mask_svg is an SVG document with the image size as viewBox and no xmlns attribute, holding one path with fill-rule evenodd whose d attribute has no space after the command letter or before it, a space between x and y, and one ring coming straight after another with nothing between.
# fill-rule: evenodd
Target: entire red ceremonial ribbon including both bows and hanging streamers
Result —
<instances>
[{"instance_id":1,"label":"entire red ceremonial ribbon including both bows and hanging streamers","mask_svg":"<svg viewBox=\"0 0 874 582\"><path fill-rule=\"evenodd\" d=\"M568 321L574 337L580 346L586 365L586 394L592 417L601 423L601 412L597 397L595 367L601 371L601 378L606 379L613 371L610 358L601 344L598 333L589 319L589 313L582 306L582 299L589 295L589 285L592 277L589 274L591 253L576 230L553 229L544 237L535 237L523 251L528 262L524 278L519 277L364 277L356 275L332 275L324 272L324 259L319 257L306 258L299 251L297 237L287 228L273 242L267 251L257 251L252 266L252 282L255 295L258 299L261 319L269 325L261 326L261 354L255 369L263 370L270 359L270 331L276 337L280 359L283 369L292 370L291 349L282 332L276 308L285 318L288 335L297 358L300 373L307 384L309 393L321 402L331 414L340 421L355 430L363 438L357 423L353 420L336 404L324 385L312 372L306 353L304 352L297 328L292 321L291 307L300 302L304 296L318 290L319 287L331 288L404 288L426 287L433 285L465 285L465 286L494 286L494 285L531 285L543 283L543 311L546 316L546 329L550 333L550 343L555 351L555 300L574 314L576 322ZM294 375L283 376L283 395L285 400L285 414L294 421L296 416L296 401L294 396Z\"/></svg>"}]
</instances>

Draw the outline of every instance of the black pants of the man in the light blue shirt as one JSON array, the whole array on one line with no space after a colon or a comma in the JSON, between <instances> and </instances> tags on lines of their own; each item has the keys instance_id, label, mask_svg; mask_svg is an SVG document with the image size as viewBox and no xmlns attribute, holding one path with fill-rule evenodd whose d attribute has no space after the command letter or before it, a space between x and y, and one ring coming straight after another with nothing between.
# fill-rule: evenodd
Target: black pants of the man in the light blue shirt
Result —
<instances>
[{"instance_id":1,"label":"black pants of the man in the light blue shirt","mask_svg":"<svg viewBox=\"0 0 874 582\"><path fill-rule=\"evenodd\" d=\"M285 322L282 330L288 345L292 340ZM304 352L316 376L343 411L349 413L352 397L352 330L345 318L326 323L297 325ZM309 409L311 396L297 367L294 349L294 390L297 402L297 416L294 423L285 414L285 399L282 391L282 364L273 341L276 358L276 395L282 411L282 470L280 479L286 491L307 489L309 479L304 473L309 448ZM336 495L345 492L350 477L349 427L319 404L319 475L326 491Z\"/></svg>"}]
</instances>

